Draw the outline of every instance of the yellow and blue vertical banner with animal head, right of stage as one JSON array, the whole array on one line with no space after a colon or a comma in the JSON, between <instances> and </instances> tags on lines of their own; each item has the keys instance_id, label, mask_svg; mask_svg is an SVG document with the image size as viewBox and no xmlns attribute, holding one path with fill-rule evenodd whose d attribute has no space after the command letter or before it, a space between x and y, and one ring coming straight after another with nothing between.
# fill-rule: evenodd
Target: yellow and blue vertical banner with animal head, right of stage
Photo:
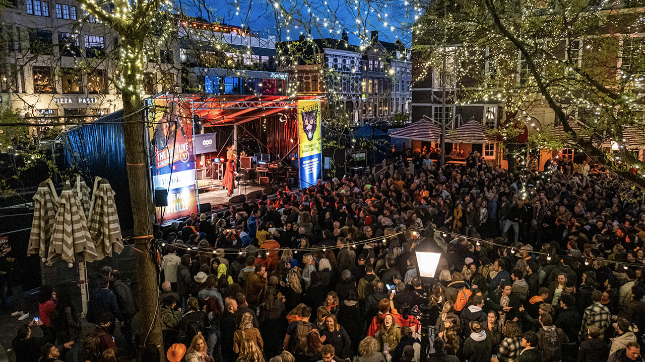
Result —
<instances>
[{"instance_id":1,"label":"yellow and blue vertical banner with animal head, right of stage","mask_svg":"<svg viewBox=\"0 0 645 362\"><path fill-rule=\"evenodd\" d=\"M298 144L300 187L304 189L316 184L323 166L319 100L298 101Z\"/></svg>"}]
</instances>

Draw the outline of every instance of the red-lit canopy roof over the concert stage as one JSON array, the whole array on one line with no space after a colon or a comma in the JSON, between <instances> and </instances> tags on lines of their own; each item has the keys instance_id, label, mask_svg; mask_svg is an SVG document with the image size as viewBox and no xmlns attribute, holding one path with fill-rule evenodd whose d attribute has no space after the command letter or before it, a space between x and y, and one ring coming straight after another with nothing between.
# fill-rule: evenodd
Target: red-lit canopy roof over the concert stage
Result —
<instances>
[{"instance_id":1,"label":"red-lit canopy roof over the concert stage","mask_svg":"<svg viewBox=\"0 0 645 362\"><path fill-rule=\"evenodd\" d=\"M298 100L322 99L322 96L287 95L168 95L157 99L176 99L192 103L192 111L202 120L203 126L225 126L241 124L268 115L295 114Z\"/></svg>"}]
</instances>

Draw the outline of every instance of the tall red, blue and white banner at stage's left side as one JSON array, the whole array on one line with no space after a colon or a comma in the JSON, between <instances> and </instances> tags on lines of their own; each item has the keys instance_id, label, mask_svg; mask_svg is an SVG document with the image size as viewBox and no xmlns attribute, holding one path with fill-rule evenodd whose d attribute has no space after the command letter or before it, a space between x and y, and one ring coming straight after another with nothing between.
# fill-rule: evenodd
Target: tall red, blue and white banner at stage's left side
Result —
<instances>
[{"instance_id":1,"label":"tall red, blue and white banner at stage's left side","mask_svg":"<svg viewBox=\"0 0 645 362\"><path fill-rule=\"evenodd\" d=\"M156 207L157 222L197 212L197 175L190 103L153 99L150 118L152 186L168 191L168 205ZM156 198L155 198L156 199Z\"/></svg>"}]
</instances>

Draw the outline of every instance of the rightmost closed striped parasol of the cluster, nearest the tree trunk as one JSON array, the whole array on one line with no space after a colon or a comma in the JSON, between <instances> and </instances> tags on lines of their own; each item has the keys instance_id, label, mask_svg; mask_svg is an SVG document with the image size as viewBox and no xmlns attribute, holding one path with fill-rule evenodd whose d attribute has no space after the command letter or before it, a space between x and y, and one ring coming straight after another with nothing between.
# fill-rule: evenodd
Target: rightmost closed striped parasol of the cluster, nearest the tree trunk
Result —
<instances>
[{"instance_id":1,"label":"rightmost closed striped parasol of the cluster, nearest the tree trunk","mask_svg":"<svg viewBox=\"0 0 645 362\"><path fill-rule=\"evenodd\" d=\"M96 180L88 230L94 241L97 260L123 251L121 225L114 203L114 190L106 179ZM97 185L98 184L98 185Z\"/></svg>"}]
</instances>

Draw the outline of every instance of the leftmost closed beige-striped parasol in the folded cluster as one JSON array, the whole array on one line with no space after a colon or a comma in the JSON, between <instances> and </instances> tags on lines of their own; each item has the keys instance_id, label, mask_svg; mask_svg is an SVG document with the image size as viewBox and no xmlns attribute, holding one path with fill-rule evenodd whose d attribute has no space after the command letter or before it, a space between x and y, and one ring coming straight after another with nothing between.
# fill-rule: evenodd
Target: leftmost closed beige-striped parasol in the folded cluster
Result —
<instances>
[{"instance_id":1,"label":"leftmost closed beige-striped parasol in the folded cluster","mask_svg":"<svg viewBox=\"0 0 645 362\"><path fill-rule=\"evenodd\" d=\"M32 220L27 254L39 254L43 261L52 238L58 208L57 201L58 196L52 180L41 182L34 195L34 220Z\"/></svg>"}]
</instances>

